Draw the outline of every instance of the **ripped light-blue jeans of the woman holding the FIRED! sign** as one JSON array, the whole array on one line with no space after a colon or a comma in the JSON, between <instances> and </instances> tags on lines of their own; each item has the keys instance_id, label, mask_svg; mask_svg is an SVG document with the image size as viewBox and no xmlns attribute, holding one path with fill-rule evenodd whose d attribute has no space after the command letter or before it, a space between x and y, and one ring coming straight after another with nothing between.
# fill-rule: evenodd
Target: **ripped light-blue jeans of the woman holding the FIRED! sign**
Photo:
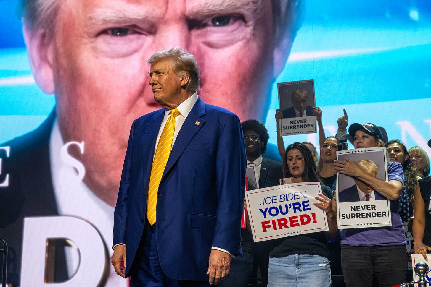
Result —
<instances>
[{"instance_id":1,"label":"ripped light-blue jeans of the woman holding the FIRED! sign","mask_svg":"<svg viewBox=\"0 0 431 287\"><path fill-rule=\"evenodd\" d=\"M304 286L331 286L328 258L302 254L269 258L268 287Z\"/></svg>"}]
</instances>

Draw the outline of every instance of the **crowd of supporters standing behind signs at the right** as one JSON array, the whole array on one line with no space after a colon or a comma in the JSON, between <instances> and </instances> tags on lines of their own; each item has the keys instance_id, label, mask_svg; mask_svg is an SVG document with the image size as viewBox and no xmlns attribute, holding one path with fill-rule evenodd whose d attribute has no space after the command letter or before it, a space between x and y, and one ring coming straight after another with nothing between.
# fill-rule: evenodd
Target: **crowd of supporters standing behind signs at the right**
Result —
<instances>
[{"instance_id":1,"label":"crowd of supporters standing behind signs at the right","mask_svg":"<svg viewBox=\"0 0 431 287\"><path fill-rule=\"evenodd\" d=\"M321 204L319 207L327 214L329 231L326 234L317 232L256 244L254 250L251 248L250 251L254 253L255 267L251 277L257 276L258 266L261 276L268 277L262 285L268 284L270 287L309 284L322 287L331 284L390 287L411 281L411 272L407 270L408 254L403 226L408 225L409 231L413 233L415 253L422 253L426 258L427 251L431 250L431 176L428 176L428 154L418 146L406 147L399 139L391 139L384 127L372 123L353 123L349 126L345 110L344 115L337 120L337 133L327 136L322 124L322 110L314 107L312 114L319 127L320 155L310 142L294 142L285 148L284 142L288 142L289 137L283 138L278 133L280 120L284 116L277 110L277 143L282 164L272 163L272 177L278 178L282 174L283 178L291 177L294 182L321 182L323 194L318 198ZM262 156L269 138L267 130L256 120L245 121L243 130L247 164L255 164L255 169L259 171L256 172L257 180L265 182L265 186L278 185L277 180L262 173L261 169L262 162L268 162ZM344 146L350 142L353 148L386 147L388 180L376 177L373 167L366 162L358 164L337 160L337 148L343 142L346 143ZM428 145L431 147L431 140ZM267 168L270 169L269 166L264 167L265 170ZM355 182L363 182L389 199L392 226L338 230L335 196L337 173L351 176ZM271 180L271 185L268 184L268 179ZM245 204L244 208L247 208ZM251 241L251 237L245 240L243 238L243 241ZM251 245L253 246L252 243ZM262 261L266 264L261 264ZM247 273L252 268L242 270L242 273ZM233 275L236 274L234 263L231 274L232 272ZM247 282L250 284L250 281L245 280L243 283L223 286L246 286Z\"/></svg>"}]
</instances>

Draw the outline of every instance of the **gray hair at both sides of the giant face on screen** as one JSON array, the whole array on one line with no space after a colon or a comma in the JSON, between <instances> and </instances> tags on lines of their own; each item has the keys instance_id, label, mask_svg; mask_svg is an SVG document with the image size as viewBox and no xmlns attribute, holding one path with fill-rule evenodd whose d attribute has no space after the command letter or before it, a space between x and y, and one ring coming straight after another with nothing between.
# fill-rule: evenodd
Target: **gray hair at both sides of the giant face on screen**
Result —
<instances>
[{"instance_id":1,"label":"gray hair at both sides of the giant face on screen","mask_svg":"<svg viewBox=\"0 0 431 287\"><path fill-rule=\"evenodd\" d=\"M31 29L53 27L61 0L19 0L23 22ZM293 40L303 18L303 0L271 0L275 43Z\"/></svg>"}]
</instances>

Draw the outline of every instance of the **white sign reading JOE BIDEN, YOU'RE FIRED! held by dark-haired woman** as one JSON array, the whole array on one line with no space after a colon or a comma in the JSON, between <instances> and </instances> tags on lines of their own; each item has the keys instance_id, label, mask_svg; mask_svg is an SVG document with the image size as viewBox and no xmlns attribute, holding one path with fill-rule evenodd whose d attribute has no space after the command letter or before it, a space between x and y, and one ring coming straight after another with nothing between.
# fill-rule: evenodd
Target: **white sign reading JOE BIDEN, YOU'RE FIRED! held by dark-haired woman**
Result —
<instances>
[{"instance_id":1,"label":"white sign reading JOE BIDEN, YOU'RE FIRED! held by dark-haired woman","mask_svg":"<svg viewBox=\"0 0 431 287\"><path fill-rule=\"evenodd\" d=\"M291 183L246 192L254 242L328 230L328 219L315 197L319 182Z\"/></svg>"}]
</instances>

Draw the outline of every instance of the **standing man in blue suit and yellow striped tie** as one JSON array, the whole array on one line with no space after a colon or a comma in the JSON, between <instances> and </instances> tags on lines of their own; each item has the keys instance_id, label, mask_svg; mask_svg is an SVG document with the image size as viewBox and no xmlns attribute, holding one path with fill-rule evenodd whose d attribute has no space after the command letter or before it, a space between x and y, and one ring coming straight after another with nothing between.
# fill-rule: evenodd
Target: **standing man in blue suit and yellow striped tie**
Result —
<instances>
[{"instance_id":1,"label":"standing man in blue suit and yellow striped tie","mask_svg":"<svg viewBox=\"0 0 431 287\"><path fill-rule=\"evenodd\" d=\"M218 284L229 273L230 257L242 255L246 156L240 120L198 98L199 68L191 54L159 51L148 63L154 99L164 108L132 124L112 264L117 274L131 277L131 286ZM169 158L154 204L149 190L160 162L158 144L164 144L172 117L171 150L162 147Z\"/></svg>"}]
</instances>

